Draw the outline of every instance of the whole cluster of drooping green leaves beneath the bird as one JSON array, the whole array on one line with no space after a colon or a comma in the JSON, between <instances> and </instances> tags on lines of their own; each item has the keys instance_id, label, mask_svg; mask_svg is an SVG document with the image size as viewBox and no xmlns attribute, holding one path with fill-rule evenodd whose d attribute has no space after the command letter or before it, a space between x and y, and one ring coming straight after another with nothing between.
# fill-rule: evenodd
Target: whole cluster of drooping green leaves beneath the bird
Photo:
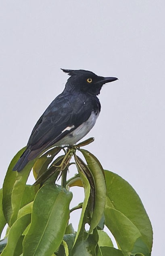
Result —
<instances>
[{"instance_id":1,"label":"whole cluster of drooping green leaves beneath the bird","mask_svg":"<svg viewBox=\"0 0 165 256\"><path fill-rule=\"evenodd\" d=\"M103 170L98 159L82 146L54 147L29 162L20 173L13 166L25 148L11 161L0 190L0 241L2 256L150 256L152 226L132 186L119 175ZM56 157L60 152L64 154ZM77 151L81 152L82 160ZM74 157L75 162L71 162ZM77 175L67 180L70 164ZM26 185L33 167L36 182ZM62 177L61 186L56 184ZM72 186L84 187L84 202L69 209ZM72 211L82 208L78 230L69 224ZM85 229L85 224L90 229ZM103 231L113 234L118 248Z\"/></svg>"}]
</instances>

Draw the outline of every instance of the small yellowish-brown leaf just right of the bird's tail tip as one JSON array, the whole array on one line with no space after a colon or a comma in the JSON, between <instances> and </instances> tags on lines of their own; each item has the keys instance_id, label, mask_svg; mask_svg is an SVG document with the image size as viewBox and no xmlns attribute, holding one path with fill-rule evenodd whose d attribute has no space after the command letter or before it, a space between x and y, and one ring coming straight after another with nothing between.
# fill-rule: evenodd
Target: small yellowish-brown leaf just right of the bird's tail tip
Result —
<instances>
[{"instance_id":1,"label":"small yellowish-brown leaf just right of the bird's tail tip","mask_svg":"<svg viewBox=\"0 0 165 256\"><path fill-rule=\"evenodd\" d=\"M38 177L48 169L48 165L60 151L61 147L54 147L38 158L33 166L33 175L35 179L38 179Z\"/></svg>"}]
</instances>

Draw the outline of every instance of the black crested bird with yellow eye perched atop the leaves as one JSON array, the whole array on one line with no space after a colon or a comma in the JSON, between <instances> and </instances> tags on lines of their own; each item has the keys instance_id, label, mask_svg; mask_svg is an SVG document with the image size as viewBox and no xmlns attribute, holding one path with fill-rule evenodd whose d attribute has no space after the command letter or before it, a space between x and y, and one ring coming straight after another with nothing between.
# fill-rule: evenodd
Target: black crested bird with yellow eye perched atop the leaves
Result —
<instances>
[{"instance_id":1,"label":"black crested bird with yellow eye perched atop the leaves","mask_svg":"<svg viewBox=\"0 0 165 256\"><path fill-rule=\"evenodd\" d=\"M73 146L88 134L100 113L97 96L102 85L117 80L116 77L102 77L88 70L61 70L69 75L65 89L50 103L34 126L27 147L13 171L22 171L29 161L50 147Z\"/></svg>"}]
</instances>

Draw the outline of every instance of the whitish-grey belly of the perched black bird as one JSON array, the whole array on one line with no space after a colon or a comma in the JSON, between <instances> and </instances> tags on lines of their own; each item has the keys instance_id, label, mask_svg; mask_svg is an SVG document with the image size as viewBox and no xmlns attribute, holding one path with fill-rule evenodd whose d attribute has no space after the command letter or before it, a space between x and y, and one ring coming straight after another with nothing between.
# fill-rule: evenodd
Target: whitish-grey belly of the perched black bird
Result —
<instances>
[{"instance_id":1,"label":"whitish-grey belly of the perched black bird","mask_svg":"<svg viewBox=\"0 0 165 256\"><path fill-rule=\"evenodd\" d=\"M69 133L63 139L58 141L55 146L67 146L77 143L77 141L81 140L92 129L92 127L96 123L98 115L99 113L95 114L94 112L92 112L86 122L82 123L77 129L75 129L73 132Z\"/></svg>"}]
</instances>

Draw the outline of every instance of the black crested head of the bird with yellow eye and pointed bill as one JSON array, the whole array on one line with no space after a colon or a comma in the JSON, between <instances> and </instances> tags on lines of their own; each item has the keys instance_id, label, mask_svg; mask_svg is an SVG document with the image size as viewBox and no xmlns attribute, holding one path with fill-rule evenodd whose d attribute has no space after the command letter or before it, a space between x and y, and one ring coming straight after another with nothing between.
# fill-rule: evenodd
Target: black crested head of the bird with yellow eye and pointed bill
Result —
<instances>
[{"instance_id":1,"label":"black crested head of the bird with yellow eye and pointed bill","mask_svg":"<svg viewBox=\"0 0 165 256\"><path fill-rule=\"evenodd\" d=\"M70 91L78 90L88 92L92 95L98 95L100 94L100 90L104 83L109 83L117 80L116 77L99 77L88 70L62 70L70 75L65 86L65 90Z\"/></svg>"}]
</instances>

